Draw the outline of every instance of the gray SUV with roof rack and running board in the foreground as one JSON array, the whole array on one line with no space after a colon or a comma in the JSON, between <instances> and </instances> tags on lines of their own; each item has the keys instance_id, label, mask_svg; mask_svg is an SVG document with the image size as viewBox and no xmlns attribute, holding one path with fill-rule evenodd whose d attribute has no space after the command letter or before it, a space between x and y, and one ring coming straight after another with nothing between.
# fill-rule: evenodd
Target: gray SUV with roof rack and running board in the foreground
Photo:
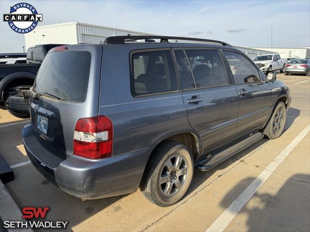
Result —
<instances>
[{"instance_id":1,"label":"gray SUV with roof rack and running board in the foreground","mask_svg":"<svg viewBox=\"0 0 310 232\"><path fill-rule=\"evenodd\" d=\"M115 36L48 52L22 137L36 169L69 194L97 199L140 187L169 206L194 167L210 170L264 135L279 137L290 103L275 73L265 76L227 43Z\"/></svg>"}]
</instances>

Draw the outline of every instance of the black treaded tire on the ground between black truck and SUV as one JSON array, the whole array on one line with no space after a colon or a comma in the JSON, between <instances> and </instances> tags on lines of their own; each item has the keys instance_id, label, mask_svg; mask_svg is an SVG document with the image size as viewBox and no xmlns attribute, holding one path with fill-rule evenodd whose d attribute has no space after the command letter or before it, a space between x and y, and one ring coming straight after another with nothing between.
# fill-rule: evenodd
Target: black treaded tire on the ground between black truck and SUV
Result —
<instances>
[{"instance_id":1,"label":"black treaded tire on the ground between black truck and SUV","mask_svg":"<svg viewBox=\"0 0 310 232\"><path fill-rule=\"evenodd\" d=\"M28 118L30 117L29 113L29 99L24 99L23 97L17 95L10 95L6 101L5 105L7 111L16 117L19 118Z\"/></svg>"}]
</instances>

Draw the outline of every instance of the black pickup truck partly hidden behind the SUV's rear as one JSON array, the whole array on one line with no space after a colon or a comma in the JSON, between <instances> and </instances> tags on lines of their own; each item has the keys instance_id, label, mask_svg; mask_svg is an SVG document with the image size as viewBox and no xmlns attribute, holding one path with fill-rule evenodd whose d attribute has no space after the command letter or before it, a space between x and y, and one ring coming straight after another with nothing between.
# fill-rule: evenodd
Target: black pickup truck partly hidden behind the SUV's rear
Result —
<instances>
[{"instance_id":1,"label":"black pickup truck partly hidden behind the SUV's rear","mask_svg":"<svg viewBox=\"0 0 310 232\"><path fill-rule=\"evenodd\" d=\"M0 107L10 114L27 118L29 96L35 76L47 52L62 44L41 44L27 50L26 64L0 64Z\"/></svg>"}]
</instances>

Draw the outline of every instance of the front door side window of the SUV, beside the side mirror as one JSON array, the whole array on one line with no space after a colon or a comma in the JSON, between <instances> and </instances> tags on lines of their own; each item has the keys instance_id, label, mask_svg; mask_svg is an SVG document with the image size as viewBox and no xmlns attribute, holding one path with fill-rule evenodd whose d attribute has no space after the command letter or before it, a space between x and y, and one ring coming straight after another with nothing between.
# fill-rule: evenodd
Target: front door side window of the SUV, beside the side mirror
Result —
<instances>
[{"instance_id":1,"label":"front door side window of the SUV, beside the side mirror","mask_svg":"<svg viewBox=\"0 0 310 232\"><path fill-rule=\"evenodd\" d=\"M224 55L232 70L235 84L258 82L261 80L258 70L243 55L228 51L224 51Z\"/></svg>"}]
</instances>

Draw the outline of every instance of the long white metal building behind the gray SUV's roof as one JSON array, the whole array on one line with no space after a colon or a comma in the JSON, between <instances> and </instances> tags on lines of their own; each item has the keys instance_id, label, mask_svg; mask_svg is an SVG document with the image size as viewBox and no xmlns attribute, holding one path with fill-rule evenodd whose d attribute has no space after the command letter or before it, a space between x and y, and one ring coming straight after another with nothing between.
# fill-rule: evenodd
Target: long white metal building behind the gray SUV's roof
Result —
<instances>
[{"instance_id":1,"label":"long white metal building behind the gray SUV's roof","mask_svg":"<svg viewBox=\"0 0 310 232\"><path fill-rule=\"evenodd\" d=\"M94 24L79 22L59 23L47 26L36 27L30 33L25 34L26 49L37 44L60 43L60 44L77 44L77 43L99 43L109 36L117 35L158 35L147 32L111 28ZM178 42L188 42L181 41ZM203 42L191 42L203 43ZM238 47L242 52L254 59L257 55L270 54L269 51L263 51L255 48Z\"/></svg>"}]
</instances>

